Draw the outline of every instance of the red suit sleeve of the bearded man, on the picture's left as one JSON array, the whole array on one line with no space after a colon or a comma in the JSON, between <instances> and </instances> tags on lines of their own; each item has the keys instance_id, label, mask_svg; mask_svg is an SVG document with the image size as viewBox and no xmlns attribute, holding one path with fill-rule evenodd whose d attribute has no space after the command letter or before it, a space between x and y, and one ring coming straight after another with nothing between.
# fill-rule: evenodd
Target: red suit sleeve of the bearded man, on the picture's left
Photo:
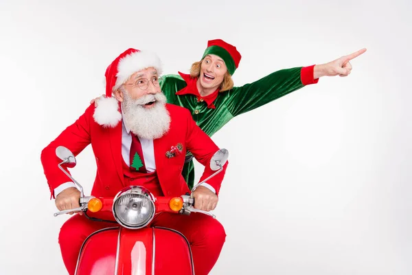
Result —
<instances>
[{"instance_id":1,"label":"red suit sleeve of the bearded man, on the picture's left","mask_svg":"<svg viewBox=\"0 0 412 275\"><path fill-rule=\"evenodd\" d=\"M94 105L91 105L76 122L62 131L41 152L41 163L52 197L54 197L54 188L71 181L57 166L62 161L56 156L56 148L65 146L76 156L90 144L90 123L93 120L93 110ZM67 168L65 170L69 173Z\"/></svg>"}]
</instances>

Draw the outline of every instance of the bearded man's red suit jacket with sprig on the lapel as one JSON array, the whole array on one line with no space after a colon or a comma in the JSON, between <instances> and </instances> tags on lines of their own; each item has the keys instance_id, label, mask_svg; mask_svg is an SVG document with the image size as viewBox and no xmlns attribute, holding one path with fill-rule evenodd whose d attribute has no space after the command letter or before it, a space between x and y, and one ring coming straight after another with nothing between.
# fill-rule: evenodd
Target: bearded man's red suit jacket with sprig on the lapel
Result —
<instances>
[{"instance_id":1,"label":"bearded man's red suit jacket with sprig on the lapel","mask_svg":"<svg viewBox=\"0 0 412 275\"><path fill-rule=\"evenodd\" d=\"M205 166L202 181L214 173L209 168L209 162L219 148L196 125L190 111L173 104L166 104L166 108L171 117L170 130L163 137L153 140L156 170L163 194L180 196L190 192L181 175L186 151L192 152L196 160ZM62 131L56 140L41 152L41 162L52 197L54 188L70 181L57 166L61 162L56 157L58 146L69 148L76 156L91 144L98 168L91 195L114 197L125 186L122 168L122 122L114 128L105 128L93 120L94 109L94 104L91 104L76 122ZM178 143L183 145L183 152L172 158L166 157L166 152ZM227 164L221 173L207 181L207 184L215 188L217 195Z\"/></svg>"}]
</instances>

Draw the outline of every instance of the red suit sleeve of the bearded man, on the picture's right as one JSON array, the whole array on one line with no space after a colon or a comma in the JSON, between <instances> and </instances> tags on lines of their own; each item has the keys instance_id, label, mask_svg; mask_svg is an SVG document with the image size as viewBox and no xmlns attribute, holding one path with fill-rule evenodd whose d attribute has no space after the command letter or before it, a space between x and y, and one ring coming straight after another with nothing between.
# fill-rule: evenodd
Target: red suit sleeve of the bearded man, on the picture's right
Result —
<instances>
[{"instance_id":1,"label":"red suit sleeve of the bearded man, on the picture's right","mask_svg":"<svg viewBox=\"0 0 412 275\"><path fill-rule=\"evenodd\" d=\"M209 135L201 130L199 126L196 125L194 122L192 115L190 115L189 110L185 110L187 114L187 133L186 133L186 140L187 140L187 151L190 151L194 158L205 166L205 170L203 171L203 175L200 181L206 179L207 177L216 173L216 171L211 170L210 168L210 159L211 157L219 151L219 147L211 140ZM211 185L216 190L216 195L219 194L220 185L222 184L223 177L225 177L227 165L229 162L223 166L222 172L218 173L218 175L208 179L206 182L207 184ZM199 181L199 182L200 182Z\"/></svg>"}]
</instances>

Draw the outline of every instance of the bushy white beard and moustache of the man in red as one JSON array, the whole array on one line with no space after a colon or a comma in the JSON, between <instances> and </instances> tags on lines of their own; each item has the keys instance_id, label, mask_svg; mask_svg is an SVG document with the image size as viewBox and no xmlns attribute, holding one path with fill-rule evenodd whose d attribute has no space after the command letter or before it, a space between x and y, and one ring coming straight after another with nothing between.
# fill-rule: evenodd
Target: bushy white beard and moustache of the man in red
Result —
<instances>
[{"instance_id":1,"label":"bushy white beard and moustache of the man in red","mask_svg":"<svg viewBox=\"0 0 412 275\"><path fill-rule=\"evenodd\" d=\"M168 132L170 114L166 109L166 97L162 93L148 94L135 100L130 98L127 91L123 92L122 111L124 122L135 135L148 140L155 140ZM150 109L144 104L156 100Z\"/></svg>"}]
</instances>

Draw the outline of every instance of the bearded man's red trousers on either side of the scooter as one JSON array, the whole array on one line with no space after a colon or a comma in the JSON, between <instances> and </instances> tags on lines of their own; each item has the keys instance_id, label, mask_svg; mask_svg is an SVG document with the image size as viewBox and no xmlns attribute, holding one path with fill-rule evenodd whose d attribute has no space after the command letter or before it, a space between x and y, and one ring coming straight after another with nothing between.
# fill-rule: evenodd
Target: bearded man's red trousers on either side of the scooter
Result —
<instances>
[{"instance_id":1,"label":"bearded man's red trousers on either side of the scooter","mask_svg":"<svg viewBox=\"0 0 412 275\"><path fill-rule=\"evenodd\" d=\"M75 214L62 225L58 242L62 259L70 275L76 271L78 254L87 236L96 230L113 225L115 223L91 221L79 214ZM174 229L185 235L192 249L196 275L209 274L218 261L226 239L222 224L205 214L192 213L187 216L163 212L155 217L152 225Z\"/></svg>"}]
</instances>

